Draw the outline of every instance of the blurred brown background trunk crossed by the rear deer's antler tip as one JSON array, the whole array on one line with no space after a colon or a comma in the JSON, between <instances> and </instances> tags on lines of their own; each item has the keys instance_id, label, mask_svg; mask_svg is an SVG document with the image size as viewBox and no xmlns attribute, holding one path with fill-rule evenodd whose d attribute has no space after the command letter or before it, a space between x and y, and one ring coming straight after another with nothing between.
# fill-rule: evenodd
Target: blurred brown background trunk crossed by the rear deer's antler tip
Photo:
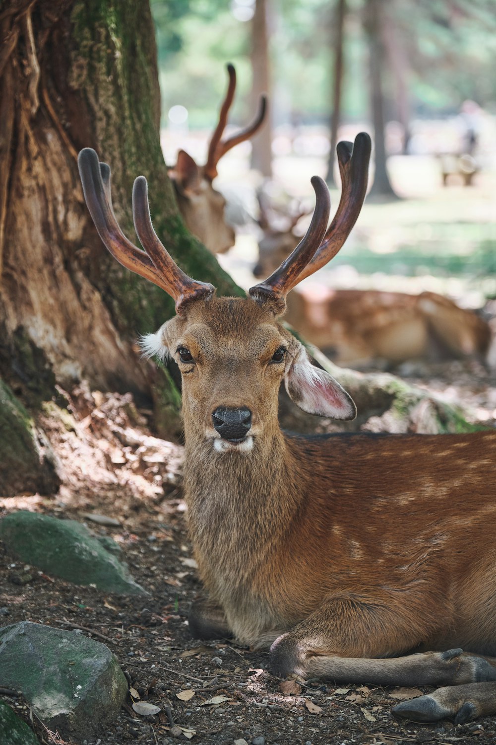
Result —
<instances>
[{"instance_id":1,"label":"blurred brown background trunk crossed by the rear deer's antler tip","mask_svg":"<svg viewBox=\"0 0 496 745\"><path fill-rule=\"evenodd\" d=\"M263 93L268 95L271 89L270 57L268 53L268 1L256 1L251 25L251 69L253 72L251 100L254 110L257 107L260 95ZM251 142L251 168L257 168L263 176L271 178L272 127L270 107L267 121Z\"/></svg>"}]
</instances>

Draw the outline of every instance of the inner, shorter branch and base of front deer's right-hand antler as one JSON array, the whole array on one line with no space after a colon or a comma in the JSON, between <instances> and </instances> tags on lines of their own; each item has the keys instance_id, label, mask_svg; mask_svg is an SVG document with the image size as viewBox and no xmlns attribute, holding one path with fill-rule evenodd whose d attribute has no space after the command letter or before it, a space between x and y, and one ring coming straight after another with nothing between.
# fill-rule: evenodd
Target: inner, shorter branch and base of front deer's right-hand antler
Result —
<instances>
[{"instance_id":1,"label":"inner, shorter branch and base of front deer's right-hand antler","mask_svg":"<svg viewBox=\"0 0 496 745\"><path fill-rule=\"evenodd\" d=\"M318 176L312 177L315 191L315 210L306 234L287 259L280 264L268 279L250 288L249 294L254 299L275 302L278 311L286 308L286 295L299 282L300 273L312 259L321 245L326 232L331 200L326 183Z\"/></svg>"}]
</instances>

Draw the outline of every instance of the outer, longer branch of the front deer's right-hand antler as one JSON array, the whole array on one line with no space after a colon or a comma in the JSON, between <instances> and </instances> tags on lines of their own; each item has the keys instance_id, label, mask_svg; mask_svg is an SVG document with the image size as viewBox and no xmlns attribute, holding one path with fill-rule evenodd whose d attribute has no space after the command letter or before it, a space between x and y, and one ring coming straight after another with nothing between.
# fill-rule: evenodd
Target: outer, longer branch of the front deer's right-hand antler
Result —
<instances>
[{"instance_id":1,"label":"outer, longer branch of the front deer's right-hand antler","mask_svg":"<svg viewBox=\"0 0 496 745\"><path fill-rule=\"evenodd\" d=\"M371 149L370 136L365 132L355 137L354 145L351 142L338 143L336 151L341 174L341 200L321 246L294 285L325 266L338 253L350 235L367 194Z\"/></svg>"}]
</instances>

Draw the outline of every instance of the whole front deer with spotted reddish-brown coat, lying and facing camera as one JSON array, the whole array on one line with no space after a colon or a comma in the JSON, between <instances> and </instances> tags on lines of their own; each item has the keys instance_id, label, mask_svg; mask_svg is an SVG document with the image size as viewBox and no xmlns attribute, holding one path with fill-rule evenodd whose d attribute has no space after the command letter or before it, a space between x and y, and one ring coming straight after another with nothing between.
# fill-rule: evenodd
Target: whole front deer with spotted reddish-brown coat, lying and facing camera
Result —
<instances>
[{"instance_id":1,"label":"whole front deer with spotted reddish-brown coat, lying and facing camera","mask_svg":"<svg viewBox=\"0 0 496 745\"><path fill-rule=\"evenodd\" d=\"M394 711L464 722L496 712L496 432L300 437L277 422L281 381L303 410L355 416L279 319L294 285L344 244L369 157L365 134L338 145L331 228L314 177L308 232L246 299L218 298L179 269L153 231L144 177L132 205L146 253L120 231L94 150L80 153L80 174L109 251L175 299L177 315L144 349L173 356L182 374L184 494L207 592L193 635L270 647L279 676L452 685Z\"/></svg>"}]
</instances>

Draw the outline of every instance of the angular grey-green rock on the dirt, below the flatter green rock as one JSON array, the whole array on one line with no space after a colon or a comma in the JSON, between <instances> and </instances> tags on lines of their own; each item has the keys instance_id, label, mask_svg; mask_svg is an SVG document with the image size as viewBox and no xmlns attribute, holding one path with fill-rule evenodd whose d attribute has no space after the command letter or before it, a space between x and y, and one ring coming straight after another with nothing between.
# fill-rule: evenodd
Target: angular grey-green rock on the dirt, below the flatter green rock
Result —
<instances>
[{"instance_id":1,"label":"angular grey-green rock on the dirt, below the flatter green rock","mask_svg":"<svg viewBox=\"0 0 496 745\"><path fill-rule=\"evenodd\" d=\"M22 691L48 729L75 738L115 720L126 697L126 678L105 644L30 621L0 629L0 670L2 685Z\"/></svg>"}]
</instances>

